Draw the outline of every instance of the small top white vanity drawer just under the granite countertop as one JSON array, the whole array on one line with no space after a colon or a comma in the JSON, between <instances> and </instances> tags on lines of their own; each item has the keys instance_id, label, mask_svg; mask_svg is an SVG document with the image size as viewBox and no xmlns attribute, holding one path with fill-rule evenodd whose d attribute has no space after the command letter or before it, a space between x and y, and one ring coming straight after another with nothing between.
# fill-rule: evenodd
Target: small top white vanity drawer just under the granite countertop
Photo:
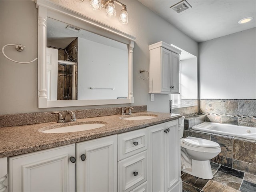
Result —
<instances>
[{"instance_id":1,"label":"small top white vanity drawer just under the granite countertop","mask_svg":"<svg viewBox=\"0 0 256 192\"><path fill-rule=\"evenodd\" d=\"M147 129L118 134L118 161L147 149Z\"/></svg>"}]
</instances>

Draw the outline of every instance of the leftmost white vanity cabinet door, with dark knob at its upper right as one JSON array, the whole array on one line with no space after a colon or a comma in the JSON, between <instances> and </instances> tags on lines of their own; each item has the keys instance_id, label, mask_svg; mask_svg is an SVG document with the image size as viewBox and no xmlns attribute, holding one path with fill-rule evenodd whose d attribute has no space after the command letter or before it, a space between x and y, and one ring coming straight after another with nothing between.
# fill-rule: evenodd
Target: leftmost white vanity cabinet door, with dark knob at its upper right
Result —
<instances>
[{"instance_id":1,"label":"leftmost white vanity cabinet door, with dark knob at its upper right","mask_svg":"<svg viewBox=\"0 0 256 192\"><path fill-rule=\"evenodd\" d=\"M75 144L9 158L10 192L74 192Z\"/></svg>"}]
</instances>

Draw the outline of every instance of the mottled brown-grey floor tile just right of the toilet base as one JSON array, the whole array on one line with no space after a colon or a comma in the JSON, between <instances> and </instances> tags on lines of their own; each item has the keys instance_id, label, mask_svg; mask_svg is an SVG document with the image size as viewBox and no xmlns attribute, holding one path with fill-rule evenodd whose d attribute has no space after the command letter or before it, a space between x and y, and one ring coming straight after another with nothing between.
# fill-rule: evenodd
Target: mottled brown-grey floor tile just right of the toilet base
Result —
<instances>
[{"instance_id":1,"label":"mottled brown-grey floor tile just right of the toilet base","mask_svg":"<svg viewBox=\"0 0 256 192\"><path fill-rule=\"evenodd\" d=\"M239 190L242 183L242 179L224 172L217 171L212 178L213 181L216 181L224 186L229 186L236 190Z\"/></svg>"}]
</instances>

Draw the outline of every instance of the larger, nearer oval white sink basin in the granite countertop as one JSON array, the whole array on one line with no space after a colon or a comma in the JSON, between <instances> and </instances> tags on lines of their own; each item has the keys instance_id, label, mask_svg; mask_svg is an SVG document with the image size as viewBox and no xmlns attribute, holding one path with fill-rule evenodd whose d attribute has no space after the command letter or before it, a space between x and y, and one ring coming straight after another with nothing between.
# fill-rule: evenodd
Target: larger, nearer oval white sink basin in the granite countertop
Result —
<instances>
[{"instance_id":1,"label":"larger, nearer oval white sink basin in the granite countertop","mask_svg":"<svg viewBox=\"0 0 256 192\"><path fill-rule=\"evenodd\" d=\"M101 123L88 123L88 124L81 124L81 125L70 125L65 127L53 128L44 131L40 131L42 133L70 133L70 132L77 132L77 131L86 131L91 129L96 129L105 126L105 124Z\"/></svg>"}]
</instances>

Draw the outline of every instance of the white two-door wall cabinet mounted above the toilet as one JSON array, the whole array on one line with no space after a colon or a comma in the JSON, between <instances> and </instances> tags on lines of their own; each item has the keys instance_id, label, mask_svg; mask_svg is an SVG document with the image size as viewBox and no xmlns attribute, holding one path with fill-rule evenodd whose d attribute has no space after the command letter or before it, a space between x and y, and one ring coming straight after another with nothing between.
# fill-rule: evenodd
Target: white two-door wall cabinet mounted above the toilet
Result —
<instances>
[{"instance_id":1,"label":"white two-door wall cabinet mounted above the toilet","mask_svg":"<svg viewBox=\"0 0 256 192\"><path fill-rule=\"evenodd\" d=\"M180 50L164 42L149 46L149 93L180 93Z\"/></svg>"}]
</instances>

